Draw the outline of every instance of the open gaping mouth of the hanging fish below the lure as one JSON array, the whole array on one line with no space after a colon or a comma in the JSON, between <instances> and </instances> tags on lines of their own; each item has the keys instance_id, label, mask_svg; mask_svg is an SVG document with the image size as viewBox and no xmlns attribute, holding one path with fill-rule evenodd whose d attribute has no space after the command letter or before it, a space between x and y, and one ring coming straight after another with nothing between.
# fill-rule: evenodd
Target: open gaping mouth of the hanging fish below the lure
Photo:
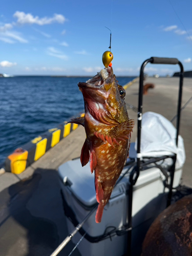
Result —
<instances>
[{"instance_id":1,"label":"open gaping mouth of the hanging fish below the lure","mask_svg":"<svg viewBox=\"0 0 192 256\"><path fill-rule=\"evenodd\" d=\"M105 83L110 83L114 76L112 67L101 69L96 76L89 79L87 82L78 82L78 87L81 89L90 88L90 89L100 89L104 86Z\"/></svg>"}]
</instances>

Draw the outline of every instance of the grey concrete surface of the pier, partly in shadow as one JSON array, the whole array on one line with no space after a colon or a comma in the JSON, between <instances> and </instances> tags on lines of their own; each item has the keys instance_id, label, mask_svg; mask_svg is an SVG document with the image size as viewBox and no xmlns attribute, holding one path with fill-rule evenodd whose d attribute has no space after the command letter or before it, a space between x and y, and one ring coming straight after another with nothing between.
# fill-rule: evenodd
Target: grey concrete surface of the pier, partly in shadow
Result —
<instances>
[{"instance_id":1,"label":"grey concrete surface of the pier, partly in shadow","mask_svg":"<svg viewBox=\"0 0 192 256\"><path fill-rule=\"evenodd\" d=\"M172 119L176 114L179 78L147 78L155 88L143 96L143 112L154 111ZM184 78L182 105L192 95L192 79ZM126 90L125 101L138 105L138 82ZM136 125L137 113L127 105L130 118ZM181 115L180 134L184 139L186 162L182 182L192 187L192 101ZM78 127L67 138L28 167L20 175L0 176L0 251L1 256L48 256L68 234L63 214L57 168L80 156L85 139L84 129ZM58 255L67 256L73 249L70 242ZM72 254L78 256L78 250Z\"/></svg>"}]
</instances>

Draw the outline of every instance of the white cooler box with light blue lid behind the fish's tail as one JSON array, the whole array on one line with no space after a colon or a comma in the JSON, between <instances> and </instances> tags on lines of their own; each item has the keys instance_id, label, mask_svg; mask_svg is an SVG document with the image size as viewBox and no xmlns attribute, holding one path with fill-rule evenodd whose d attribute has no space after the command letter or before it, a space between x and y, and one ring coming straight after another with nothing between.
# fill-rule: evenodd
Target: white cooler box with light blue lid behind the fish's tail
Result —
<instances>
[{"instance_id":1,"label":"white cooler box with light blue lid behind the fish's tail","mask_svg":"<svg viewBox=\"0 0 192 256\"><path fill-rule=\"evenodd\" d=\"M134 157L134 154L134 145L131 145L130 157ZM127 168L123 168L121 175ZM62 164L58 173L70 233L74 225L80 223L97 203L94 174L91 174L89 163L81 166L80 159ZM164 180L161 170L157 167L140 172L133 192L133 247L138 247L137 243L143 239L143 234L151 222L166 206ZM87 238L78 245L82 256L121 256L126 252L126 232L122 235L112 233L111 237L101 241L100 238L115 229L121 234L120 231L127 223L128 189L129 173L114 188L111 199L104 208L101 223L95 222L96 210L84 223L83 229L87 232ZM78 232L72 239L73 243L76 244L81 237L82 234Z\"/></svg>"}]
</instances>

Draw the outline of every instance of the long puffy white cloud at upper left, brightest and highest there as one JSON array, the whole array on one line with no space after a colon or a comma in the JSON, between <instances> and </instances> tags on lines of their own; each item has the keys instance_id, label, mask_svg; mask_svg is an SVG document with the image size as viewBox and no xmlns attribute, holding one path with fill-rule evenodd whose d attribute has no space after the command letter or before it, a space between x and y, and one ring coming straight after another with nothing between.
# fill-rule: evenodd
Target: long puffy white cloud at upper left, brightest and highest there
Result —
<instances>
[{"instance_id":1,"label":"long puffy white cloud at upper left, brightest and highest there","mask_svg":"<svg viewBox=\"0 0 192 256\"><path fill-rule=\"evenodd\" d=\"M17 18L17 23L19 24L37 24L39 26L52 24L54 22L63 24L66 18L62 14L55 13L53 17L43 17L33 16L31 13L16 11L13 17Z\"/></svg>"}]
</instances>

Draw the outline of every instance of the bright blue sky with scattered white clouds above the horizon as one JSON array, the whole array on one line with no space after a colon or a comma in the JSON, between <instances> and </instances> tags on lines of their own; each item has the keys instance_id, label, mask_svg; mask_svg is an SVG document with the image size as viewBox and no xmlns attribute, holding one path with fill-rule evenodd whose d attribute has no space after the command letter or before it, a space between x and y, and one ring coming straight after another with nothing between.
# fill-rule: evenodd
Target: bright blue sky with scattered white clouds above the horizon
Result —
<instances>
[{"instance_id":1,"label":"bright blue sky with scattered white clouds above the horizon","mask_svg":"<svg viewBox=\"0 0 192 256\"><path fill-rule=\"evenodd\" d=\"M109 50L105 27L118 76L137 76L152 56L178 58L192 70L191 10L191 0L7 0L0 9L0 73L95 75ZM176 71L178 65L149 64L144 72Z\"/></svg>"}]
</instances>

